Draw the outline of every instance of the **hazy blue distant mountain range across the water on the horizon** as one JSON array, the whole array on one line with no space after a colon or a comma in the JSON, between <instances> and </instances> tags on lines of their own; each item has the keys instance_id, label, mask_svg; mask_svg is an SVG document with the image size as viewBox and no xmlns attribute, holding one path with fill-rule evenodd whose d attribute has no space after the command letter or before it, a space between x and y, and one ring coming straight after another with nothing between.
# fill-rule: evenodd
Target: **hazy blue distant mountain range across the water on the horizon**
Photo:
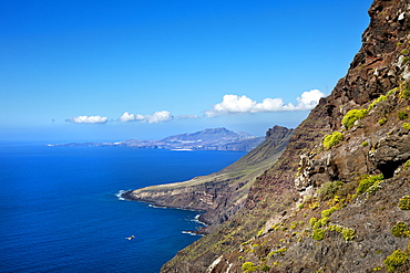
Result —
<instances>
[{"instance_id":1,"label":"hazy blue distant mountain range across the water on the horizon","mask_svg":"<svg viewBox=\"0 0 410 273\"><path fill-rule=\"evenodd\" d=\"M244 132L235 133L226 128L211 128L170 136L160 140L129 139L117 143L70 143L49 146L120 146L140 149L249 151L264 140L265 137L255 137Z\"/></svg>"}]
</instances>

